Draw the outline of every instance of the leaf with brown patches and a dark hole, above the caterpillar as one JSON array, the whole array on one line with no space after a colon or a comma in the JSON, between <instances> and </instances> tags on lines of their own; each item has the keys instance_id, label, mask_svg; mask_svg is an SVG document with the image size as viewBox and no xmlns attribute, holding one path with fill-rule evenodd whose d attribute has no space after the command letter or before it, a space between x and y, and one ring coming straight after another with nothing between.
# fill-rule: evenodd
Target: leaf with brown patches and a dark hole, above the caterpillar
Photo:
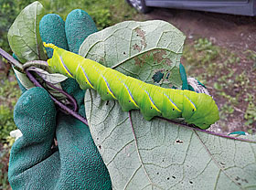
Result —
<instances>
[{"instance_id":1,"label":"leaf with brown patches and a dark hole, above the caterpillar","mask_svg":"<svg viewBox=\"0 0 256 190\"><path fill-rule=\"evenodd\" d=\"M86 38L80 55L133 78L180 89L184 40L182 32L165 21L126 21Z\"/></svg>"}]
</instances>

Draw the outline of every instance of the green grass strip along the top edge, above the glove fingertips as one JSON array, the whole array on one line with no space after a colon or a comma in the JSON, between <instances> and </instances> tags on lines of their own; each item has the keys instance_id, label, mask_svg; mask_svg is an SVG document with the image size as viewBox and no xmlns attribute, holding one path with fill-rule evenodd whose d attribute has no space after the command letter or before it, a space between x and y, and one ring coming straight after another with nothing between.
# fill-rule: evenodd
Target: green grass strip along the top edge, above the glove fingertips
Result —
<instances>
[{"instance_id":1,"label":"green grass strip along the top edge, above the glove fingertips","mask_svg":"<svg viewBox=\"0 0 256 190\"><path fill-rule=\"evenodd\" d=\"M42 0L40 2L48 10L48 13L57 13L64 20L70 11L80 8L92 17L99 30L124 20L142 20L144 18L144 15L138 14L124 0L81 0L75 4L71 0Z\"/></svg>"}]
</instances>

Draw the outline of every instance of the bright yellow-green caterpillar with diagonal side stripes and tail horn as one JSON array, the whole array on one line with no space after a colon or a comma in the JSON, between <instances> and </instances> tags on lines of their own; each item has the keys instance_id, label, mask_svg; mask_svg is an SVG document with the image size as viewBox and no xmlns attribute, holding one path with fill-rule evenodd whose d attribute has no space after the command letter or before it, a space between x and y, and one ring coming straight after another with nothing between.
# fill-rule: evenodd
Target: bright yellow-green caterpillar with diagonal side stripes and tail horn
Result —
<instances>
[{"instance_id":1,"label":"bright yellow-green caterpillar with diagonal side stripes and tail horn","mask_svg":"<svg viewBox=\"0 0 256 190\"><path fill-rule=\"evenodd\" d=\"M76 79L83 90L97 90L102 100L118 100L123 111L140 110L147 121L155 116L184 118L201 129L219 120L218 107L207 94L147 84L53 44L44 46L54 49L48 59L53 72Z\"/></svg>"}]
</instances>

